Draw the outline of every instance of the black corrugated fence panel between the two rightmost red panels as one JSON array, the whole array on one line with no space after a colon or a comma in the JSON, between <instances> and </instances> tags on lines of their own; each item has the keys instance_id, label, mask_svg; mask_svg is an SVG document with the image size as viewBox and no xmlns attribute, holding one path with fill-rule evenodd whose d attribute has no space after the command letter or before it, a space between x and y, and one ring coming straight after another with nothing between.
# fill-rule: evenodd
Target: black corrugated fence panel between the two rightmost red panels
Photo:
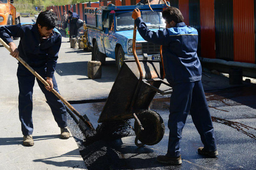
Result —
<instances>
[{"instance_id":1,"label":"black corrugated fence panel between the two rightmost red panels","mask_svg":"<svg viewBox=\"0 0 256 170\"><path fill-rule=\"evenodd\" d=\"M233 0L215 0L216 58L233 61Z\"/></svg>"}]
</instances>

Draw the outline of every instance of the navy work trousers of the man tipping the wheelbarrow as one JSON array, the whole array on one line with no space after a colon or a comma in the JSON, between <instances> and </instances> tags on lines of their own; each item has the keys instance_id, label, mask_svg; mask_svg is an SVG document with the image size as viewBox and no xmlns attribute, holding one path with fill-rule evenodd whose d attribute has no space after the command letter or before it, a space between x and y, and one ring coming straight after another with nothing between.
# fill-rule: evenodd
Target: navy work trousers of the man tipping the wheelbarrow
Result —
<instances>
[{"instance_id":1,"label":"navy work trousers of the man tipping the wheelbarrow","mask_svg":"<svg viewBox=\"0 0 256 170\"><path fill-rule=\"evenodd\" d=\"M172 90L168 121L170 133L166 155L180 156L181 133L189 111L204 148L209 151L217 150L212 119L201 80L177 83L173 85Z\"/></svg>"}]
</instances>

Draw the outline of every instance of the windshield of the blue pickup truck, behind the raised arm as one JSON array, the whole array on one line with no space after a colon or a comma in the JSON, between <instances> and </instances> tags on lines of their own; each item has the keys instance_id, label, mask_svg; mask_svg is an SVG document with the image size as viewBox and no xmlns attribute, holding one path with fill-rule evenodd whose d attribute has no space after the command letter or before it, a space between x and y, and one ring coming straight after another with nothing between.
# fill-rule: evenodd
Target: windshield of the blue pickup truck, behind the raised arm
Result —
<instances>
[{"instance_id":1,"label":"windshield of the blue pickup truck, behind the raised arm","mask_svg":"<svg viewBox=\"0 0 256 170\"><path fill-rule=\"evenodd\" d=\"M116 30L134 29L134 19L131 17L132 12L116 14ZM160 11L141 11L141 18L148 28L165 28L165 20Z\"/></svg>"}]
</instances>

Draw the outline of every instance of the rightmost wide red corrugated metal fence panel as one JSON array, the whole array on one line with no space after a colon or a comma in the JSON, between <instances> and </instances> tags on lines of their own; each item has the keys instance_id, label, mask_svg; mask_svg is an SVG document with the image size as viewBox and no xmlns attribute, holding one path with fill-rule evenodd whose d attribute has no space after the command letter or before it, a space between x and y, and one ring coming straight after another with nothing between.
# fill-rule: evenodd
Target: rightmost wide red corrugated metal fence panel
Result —
<instances>
[{"instance_id":1,"label":"rightmost wide red corrugated metal fence panel","mask_svg":"<svg viewBox=\"0 0 256 170\"><path fill-rule=\"evenodd\" d=\"M253 0L233 0L234 61L255 63Z\"/></svg>"}]
</instances>

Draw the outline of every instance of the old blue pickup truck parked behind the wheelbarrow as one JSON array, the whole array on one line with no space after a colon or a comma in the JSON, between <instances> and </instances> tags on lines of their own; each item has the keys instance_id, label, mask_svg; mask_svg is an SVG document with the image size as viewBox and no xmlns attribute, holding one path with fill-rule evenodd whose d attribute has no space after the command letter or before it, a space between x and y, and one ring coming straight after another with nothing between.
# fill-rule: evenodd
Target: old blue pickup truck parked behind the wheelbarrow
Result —
<instances>
[{"instance_id":1,"label":"old blue pickup truck parked behind the wheelbarrow","mask_svg":"<svg viewBox=\"0 0 256 170\"><path fill-rule=\"evenodd\" d=\"M131 17L134 8L139 8L141 17L152 31L165 28L162 17L165 4L136 6L100 6L99 8L87 7L85 11L85 25L87 38L92 48L92 61L105 63L106 57L116 60L120 69L124 60L134 59L132 54L132 38L134 20ZM136 53L139 59L159 60L160 45L145 41L137 32Z\"/></svg>"}]
</instances>

